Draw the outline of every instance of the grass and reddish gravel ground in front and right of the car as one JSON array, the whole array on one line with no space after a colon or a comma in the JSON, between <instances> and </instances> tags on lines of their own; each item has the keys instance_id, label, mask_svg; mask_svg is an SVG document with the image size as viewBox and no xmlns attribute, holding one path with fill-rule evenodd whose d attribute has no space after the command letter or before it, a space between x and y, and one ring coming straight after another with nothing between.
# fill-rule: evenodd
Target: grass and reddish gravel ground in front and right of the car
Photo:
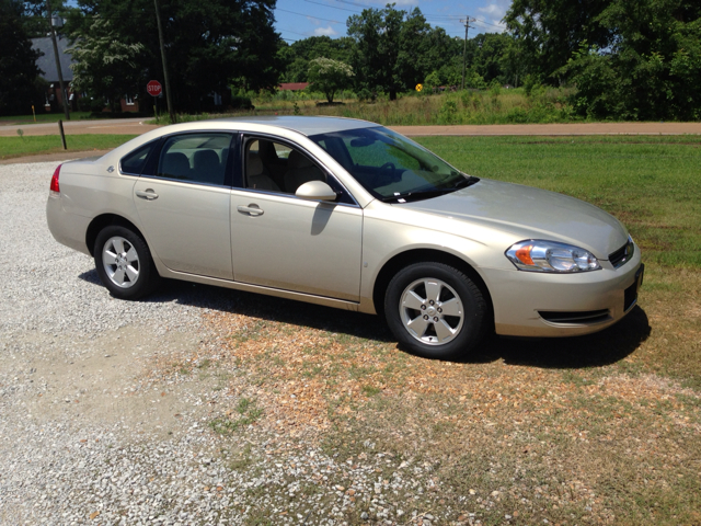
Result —
<instances>
[{"instance_id":1,"label":"grass and reddish gravel ground in front and right of the car","mask_svg":"<svg viewBox=\"0 0 701 526\"><path fill-rule=\"evenodd\" d=\"M700 139L418 140L468 173L621 218L647 264L639 307L598 334L492 338L462 361L437 362L398 348L377 317L242 294L208 316L227 350L209 368L248 379L242 396L256 400L269 448L314 442L344 465L381 453L421 467L376 470L378 482L415 477L416 488L356 494L343 512L349 525L384 524L380 510L398 525L427 524L427 513L434 525L700 524ZM253 433L231 431L237 408L231 422L222 413L210 423L227 430L222 447L231 433ZM290 516L309 507L304 494L279 498ZM311 513L312 523L327 516ZM245 524L292 522L258 508Z\"/></svg>"}]
</instances>

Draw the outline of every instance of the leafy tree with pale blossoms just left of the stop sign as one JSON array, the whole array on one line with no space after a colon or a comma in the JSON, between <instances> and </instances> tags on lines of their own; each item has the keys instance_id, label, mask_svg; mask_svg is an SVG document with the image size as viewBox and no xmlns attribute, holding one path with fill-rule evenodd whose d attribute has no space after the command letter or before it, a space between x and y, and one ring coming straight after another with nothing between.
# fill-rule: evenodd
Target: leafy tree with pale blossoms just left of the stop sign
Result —
<instances>
[{"instance_id":1,"label":"leafy tree with pale blossoms just left of the stop sign","mask_svg":"<svg viewBox=\"0 0 701 526\"><path fill-rule=\"evenodd\" d=\"M70 66L73 90L97 100L106 98L116 112L124 95L134 98L139 92L142 75L137 58L143 52L143 44L123 42L108 20L99 15L91 19L85 31L81 26L73 33Z\"/></svg>"}]
</instances>

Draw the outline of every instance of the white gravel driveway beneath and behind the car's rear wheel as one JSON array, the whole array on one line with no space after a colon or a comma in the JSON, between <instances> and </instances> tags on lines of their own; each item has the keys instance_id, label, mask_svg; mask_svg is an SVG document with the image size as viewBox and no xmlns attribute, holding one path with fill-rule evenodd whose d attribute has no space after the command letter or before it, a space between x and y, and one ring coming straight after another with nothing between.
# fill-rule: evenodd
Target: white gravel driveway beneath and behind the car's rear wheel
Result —
<instances>
[{"instance_id":1,"label":"white gravel driveway beneath and behind the car's rear wheel","mask_svg":"<svg viewBox=\"0 0 701 526\"><path fill-rule=\"evenodd\" d=\"M200 316L238 293L113 299L48 231L56 164L0 165L0 524L447 523L427 512L429 464L221 437L207 423L235 399L215 373L149 378L150 361L216 354Z\"/></svg>"}]
</instances>

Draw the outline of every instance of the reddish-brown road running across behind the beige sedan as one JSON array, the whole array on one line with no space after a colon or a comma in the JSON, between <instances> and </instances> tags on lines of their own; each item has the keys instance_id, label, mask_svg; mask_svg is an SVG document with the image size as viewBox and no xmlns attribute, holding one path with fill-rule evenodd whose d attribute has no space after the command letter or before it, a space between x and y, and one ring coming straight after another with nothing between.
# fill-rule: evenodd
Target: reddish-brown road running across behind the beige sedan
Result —
<instances>
[{"instance_id":1,"label":"reddish-brown road running across behind the beige sedan","mask_svg":"<svg viewBox=\"0 0 701 526\"><path fill-rule=\"evenodd\" d=\"M158 126L143 124L140 118L110 121L69 121L64 123L67 135L77 134L143 134ZM58 124L2 125L0 136L57 135ZM701 123L573 123L573 124L494 124L480 126L392 126L406 136L453 135L701 135Z\"/></svg>"}]
</instances>

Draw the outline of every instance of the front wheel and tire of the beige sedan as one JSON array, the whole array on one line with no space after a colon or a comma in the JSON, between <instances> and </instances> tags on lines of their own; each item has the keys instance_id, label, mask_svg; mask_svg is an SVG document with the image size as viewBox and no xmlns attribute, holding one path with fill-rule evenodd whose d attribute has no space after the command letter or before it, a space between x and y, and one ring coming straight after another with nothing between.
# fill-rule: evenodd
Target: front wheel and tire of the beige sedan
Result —
<instances>
[{"instance_id":1,"label":"front wheel and tire of the beige sedan","mask_svg":"<svg viewBox=\"0 0 701 526\"><path fill-rule=\"evenodd\" d=\"M478 286L444 263L401 270L384 295L384 316L400 344L427 358L474 350L485 332L487 305Z\"/></svg>"}]
</instances>

